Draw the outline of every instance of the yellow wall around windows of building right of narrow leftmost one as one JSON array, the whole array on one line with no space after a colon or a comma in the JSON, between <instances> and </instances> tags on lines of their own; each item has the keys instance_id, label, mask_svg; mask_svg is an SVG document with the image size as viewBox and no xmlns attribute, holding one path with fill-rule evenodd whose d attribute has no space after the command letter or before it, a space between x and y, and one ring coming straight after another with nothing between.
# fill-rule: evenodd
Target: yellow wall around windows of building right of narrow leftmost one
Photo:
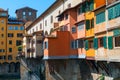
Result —
<instances>
[{"instance_id":1,"label":"yellow wall around windows of building right of narrow leftmost one","mask_svg":"<svg viewBox=\"0 0 120 80\"><path fill-rule=\"evenodd\" d=\"M9 26L23 26L22 24L8 24L7 28ZM8 30L8 29L7 29ZM17 37L17 33L24 33L24 30L8 30L7 33L13 33L14 37L8 37L7 38L7 55L12 55L12 60L8 60L8 62L16 62L16 56L18 55L18 46L16 46L16 40L23 40L22 37ZM9 44L9 40L12 40L12 45ZM12 48L12 52L9 52L9 48Z\"/></svg>"}]
</instances>

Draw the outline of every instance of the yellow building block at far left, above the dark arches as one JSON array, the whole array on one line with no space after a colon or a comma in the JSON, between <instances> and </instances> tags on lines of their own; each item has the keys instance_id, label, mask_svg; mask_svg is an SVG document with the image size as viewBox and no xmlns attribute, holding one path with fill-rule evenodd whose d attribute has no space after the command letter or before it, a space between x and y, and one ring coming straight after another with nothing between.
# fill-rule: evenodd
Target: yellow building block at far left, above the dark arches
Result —
<instances>
[{"instance_id":1,"label":"yellow building block at far left, above the dark arches","mask_svg":"<svg viewBox=\"0 0 120 80\"><path fill-rule=\"evenodd\" d=\"M8 18L8 11L0 9L0 63L19 62L18 46L22 45L23 22Z\"/></svg>"}]
</instances>

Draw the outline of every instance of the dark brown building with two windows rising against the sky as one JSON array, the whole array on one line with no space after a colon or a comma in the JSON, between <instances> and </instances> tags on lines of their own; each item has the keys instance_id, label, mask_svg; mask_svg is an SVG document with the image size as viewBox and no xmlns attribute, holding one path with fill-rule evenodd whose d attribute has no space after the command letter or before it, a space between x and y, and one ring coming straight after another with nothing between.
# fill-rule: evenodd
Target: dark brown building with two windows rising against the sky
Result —
<instances>
[{"instance_id":1,"label":"dark brown building with two windows rising against the sky","mask_svg":"<svg viewBox=\"0 0 120 80\"><path fill-rule=\"evenodd\" d=\"M16 17L19 20L34 21L37 17L37 10L30 7L23 7L15 11Z\"/></svg>"}]
</instances>

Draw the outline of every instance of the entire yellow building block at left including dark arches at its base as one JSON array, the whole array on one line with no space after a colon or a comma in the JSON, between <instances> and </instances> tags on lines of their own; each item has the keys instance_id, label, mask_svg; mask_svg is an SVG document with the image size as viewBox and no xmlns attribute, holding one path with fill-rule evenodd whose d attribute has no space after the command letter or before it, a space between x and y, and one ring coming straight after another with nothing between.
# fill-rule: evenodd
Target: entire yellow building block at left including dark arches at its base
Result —
<instances>
[{"instance_id":1,"label":"entire yellow building block at left including dark arches at its base","mask_svg":"<svg viewBox=\"0 0 120 80\"><path fill-rule=\"evenodd\" d=\"M8 11L0 9L0 79L20 78L18 52L22 51L23 21L8 17Z\"/></svg>"}]
</instances>

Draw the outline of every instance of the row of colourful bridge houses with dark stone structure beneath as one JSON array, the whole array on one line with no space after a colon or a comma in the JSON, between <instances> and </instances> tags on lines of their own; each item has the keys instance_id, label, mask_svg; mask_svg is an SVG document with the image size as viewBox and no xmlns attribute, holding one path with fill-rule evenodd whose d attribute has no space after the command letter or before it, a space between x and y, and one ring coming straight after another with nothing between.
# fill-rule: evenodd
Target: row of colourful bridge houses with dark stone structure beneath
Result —
<instances>
[{"instance_id":1,"label":"row of colourful bridge houses with dark stone structure beneath","mask_svg":"<svg viewBox=\"0 0 120 80\"><path fill-rule=\"evenodd\" d=\"M119 4L55 1L26 28L25 56L45 61L46 80L119 79Z\"/></svg>"}]
</instances>

